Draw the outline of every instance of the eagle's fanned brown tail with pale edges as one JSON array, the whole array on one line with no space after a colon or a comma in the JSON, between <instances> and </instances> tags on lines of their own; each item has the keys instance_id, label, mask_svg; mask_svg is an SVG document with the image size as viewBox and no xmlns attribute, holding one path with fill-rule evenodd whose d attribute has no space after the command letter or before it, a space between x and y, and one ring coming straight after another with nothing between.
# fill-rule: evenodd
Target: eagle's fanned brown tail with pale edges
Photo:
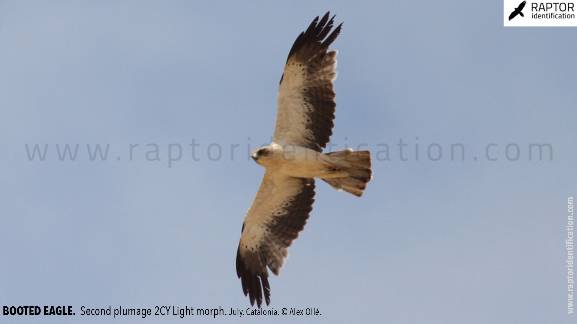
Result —
<instances>
[{"instance_id":1,"label":"eagle's fanned brown tail with pale edges","mask_svg":"<svg viewBox=\"0 0 577 324\"><path fill-rule=\"evenodd\" d=\"M327 178L324 182L330 184L336 190L344 190L347 193L354 194L357 197L362 196L362 191L366 188L366 183L372 179L373 171L370 169L370 152L368 150L353 151L344 149L338 152L328 153L337 160L345 163L339 163L342 171L349 173L342 178Z\"/></svg>"}]
</instances>

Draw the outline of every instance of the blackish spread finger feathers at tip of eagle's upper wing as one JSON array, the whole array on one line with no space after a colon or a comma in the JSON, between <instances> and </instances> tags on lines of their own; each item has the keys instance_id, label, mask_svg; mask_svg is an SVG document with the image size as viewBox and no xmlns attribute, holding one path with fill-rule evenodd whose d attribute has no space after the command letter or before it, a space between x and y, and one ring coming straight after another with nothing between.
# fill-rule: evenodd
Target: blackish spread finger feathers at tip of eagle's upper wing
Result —
<instances>
[{"instance_id":1,"label":"blackish spread finger feathers at tip of eagle's upper wing","mask_svg":"<svg viewBox=\"0 0 577 324\"><path fill-rule=\"evenodd\" d=\"M310 47L310 50L307 51L310 52L310 56L317 54L321 50L325 50L326 52L328 47L336 39L336 36L339 36L340 28L343 25L341 22L323 42L324 37L326 37L331 31L333 20L336 16L332 16L331 20L328 20L330 13L331 12L327 12L320 21L319 16L314 18L313 22L310 23L309 28L307 28L305 32L302 32L301 35L298 35L297 40L294 41L293 47L291 47L290 52L288 52L287 62L295 52L304 47Z\"/></svg>"}]
</instances>

